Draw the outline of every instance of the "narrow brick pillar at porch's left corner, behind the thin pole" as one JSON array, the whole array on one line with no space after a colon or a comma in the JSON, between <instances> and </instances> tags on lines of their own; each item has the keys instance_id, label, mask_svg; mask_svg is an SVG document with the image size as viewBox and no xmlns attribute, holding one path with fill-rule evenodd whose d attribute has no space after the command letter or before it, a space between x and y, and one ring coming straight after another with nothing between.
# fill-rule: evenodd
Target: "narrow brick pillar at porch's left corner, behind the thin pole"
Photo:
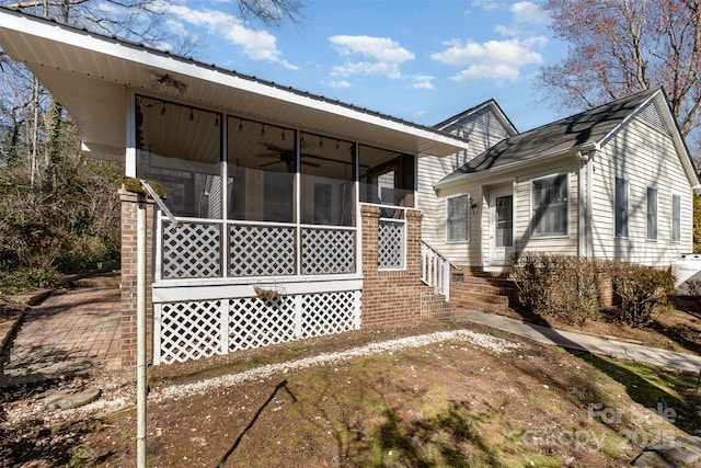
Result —
<instances>
[{"instance_id":1,"label":"narrow brick pillar at porch's left corner, behind the thin pole","mask_svg":"<svg viewBox=\"0 0 701 468\"><path fill-rule=\"evenodd\" d=\"M137 364L137 213L139 202L146 203L147 213L147 358L149 364L153 362L153 305L151 300L153 202L125 190L119 191L119 202L122 204L122 316L119 318L122 366L134 367Z\"/></svg>"}]
</instances>

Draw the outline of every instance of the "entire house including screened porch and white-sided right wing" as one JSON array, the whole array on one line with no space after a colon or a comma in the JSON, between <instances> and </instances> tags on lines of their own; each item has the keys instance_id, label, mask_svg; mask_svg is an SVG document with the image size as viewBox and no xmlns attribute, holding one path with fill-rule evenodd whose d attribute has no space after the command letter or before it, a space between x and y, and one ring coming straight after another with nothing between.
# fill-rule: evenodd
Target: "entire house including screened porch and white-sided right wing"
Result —
<instances>
[{"instance_id":1,"label":"entire house including screened porch and white-sided right wing","mask_svg":"<svg viewBox=\"0 0 701 468\"><path fill-rule=\"evenodd\" d=\"M84 151L166 191L120 191L125 366L145 203L156 364L447 317L451 269L517 252L691 250L698 180L659 89L518 134L494 101L426 127L4 8L0 46Z\"/></svg>"}]
</instances>

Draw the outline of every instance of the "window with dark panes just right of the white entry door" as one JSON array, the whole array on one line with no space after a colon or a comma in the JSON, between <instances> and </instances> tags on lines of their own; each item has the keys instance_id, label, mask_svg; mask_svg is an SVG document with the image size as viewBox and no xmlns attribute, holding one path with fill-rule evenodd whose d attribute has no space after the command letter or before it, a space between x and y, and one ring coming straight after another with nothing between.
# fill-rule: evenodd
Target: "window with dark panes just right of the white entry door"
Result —
<instances>
[{"instance_id":1,"label":"window with dark panes just right of the white entry door","mask_svg":"<svg viewBox=\"0 0 701 468\"><path fill-rule=\"evenodd\" d=\"M566 173L533 181L533 237L567 235L568 190Z\"/></svg>"}]
</instances>

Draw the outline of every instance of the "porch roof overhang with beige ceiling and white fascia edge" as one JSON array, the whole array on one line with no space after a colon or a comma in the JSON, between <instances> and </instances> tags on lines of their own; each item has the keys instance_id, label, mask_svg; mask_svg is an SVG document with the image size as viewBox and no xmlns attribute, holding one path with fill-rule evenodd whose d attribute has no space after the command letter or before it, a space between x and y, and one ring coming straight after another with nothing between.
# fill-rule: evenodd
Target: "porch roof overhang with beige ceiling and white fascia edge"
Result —
<instances>
[{"instance_id":1,"label":"porch roof overhang with beige ceiling and white fascia edge","mask_svg":"<svg viewBox=\"0 0 701 468\"><path fill-rule=\"evenodd\" d=\"M129 89L413 155L467 148L429 127L1 8L0 45L68 110L85 149L105 159L125 156Z\"/></svg>"}]
</instances>

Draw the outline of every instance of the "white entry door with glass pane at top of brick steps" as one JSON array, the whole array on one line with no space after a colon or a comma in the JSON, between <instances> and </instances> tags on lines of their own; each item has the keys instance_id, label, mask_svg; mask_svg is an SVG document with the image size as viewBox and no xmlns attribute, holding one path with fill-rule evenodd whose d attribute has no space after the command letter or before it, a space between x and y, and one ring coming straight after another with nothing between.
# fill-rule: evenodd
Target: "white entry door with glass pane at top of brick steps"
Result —
<instances>
[{"instance_id":1,"label":"white entry door with glass pane at top of brick steps","mask_svg":"<svg viewBox=\"0 0 701 468\"><path fill-rule=\"evenodd\" d=\"M490 260L505 265L514 252L514 194L510 189L490 193Z\"/></svg>"}]
</instances>

